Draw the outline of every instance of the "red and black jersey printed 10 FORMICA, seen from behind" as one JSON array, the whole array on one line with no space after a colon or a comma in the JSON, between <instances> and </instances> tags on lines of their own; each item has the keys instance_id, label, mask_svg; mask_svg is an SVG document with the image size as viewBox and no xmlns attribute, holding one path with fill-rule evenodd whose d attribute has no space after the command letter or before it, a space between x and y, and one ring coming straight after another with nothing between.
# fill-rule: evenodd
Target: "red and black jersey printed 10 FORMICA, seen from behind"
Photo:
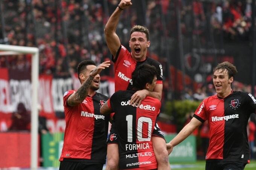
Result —
<instances>
[{"instance_id":1,"label":"red and black jersey printed 10 FORMICA, seen from behind","mask_svg":"<svg viewBox=\"0 0 256 170\"><path fill-rule=\"evenodd\" d=\"M138 107L129 105L134 90L118 91L107 101L115 112L119 148L119 168L149 170L157 168L151 142L161 102L146 96ZM110 137L111 138L111 137Z\"/></svg>"}]
</instances>

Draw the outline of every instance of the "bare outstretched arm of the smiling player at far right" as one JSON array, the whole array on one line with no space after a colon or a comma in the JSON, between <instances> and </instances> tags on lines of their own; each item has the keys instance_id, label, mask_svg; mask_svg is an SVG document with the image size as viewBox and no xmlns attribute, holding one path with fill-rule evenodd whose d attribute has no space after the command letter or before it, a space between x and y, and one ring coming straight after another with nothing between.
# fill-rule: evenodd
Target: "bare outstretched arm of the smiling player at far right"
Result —
<instances>
[{"instance_id":1,"label":"bare outstretched arm of the smiling player at far right","mask_svg":"<svg viewBox=\"0 0 256 170\"><path fill-rule=\"evenodd\" d=\"M202 122L193 117L190 122L184 126L183 129L181 129L177 136L175 136L169 143L166 144L168 153L170 154L174 146L185 140L201 124Z\"/></svg>"}]
</instances>

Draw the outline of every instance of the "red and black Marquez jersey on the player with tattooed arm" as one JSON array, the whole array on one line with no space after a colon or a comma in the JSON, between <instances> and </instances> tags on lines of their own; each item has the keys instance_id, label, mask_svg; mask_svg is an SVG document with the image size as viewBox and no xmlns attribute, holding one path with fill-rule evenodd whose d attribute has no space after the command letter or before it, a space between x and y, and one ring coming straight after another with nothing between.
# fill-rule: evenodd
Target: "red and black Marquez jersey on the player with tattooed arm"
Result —
<instances>
[{"instance_id":1,"label":"red and black Marquez jersey on the player with tattooed arm","mask_svg":"<svg viewBox=\"0 0 256 170\"><path fill-rule=\"evenodd\" d=\"M70 107L67 99L72 93L75 91L69 90L63 97L66 129L59 160L76 158L105 163L109 116L100 114L99 110L108 97L96 92L81 104Z\"/></svg>"}]
</instances>

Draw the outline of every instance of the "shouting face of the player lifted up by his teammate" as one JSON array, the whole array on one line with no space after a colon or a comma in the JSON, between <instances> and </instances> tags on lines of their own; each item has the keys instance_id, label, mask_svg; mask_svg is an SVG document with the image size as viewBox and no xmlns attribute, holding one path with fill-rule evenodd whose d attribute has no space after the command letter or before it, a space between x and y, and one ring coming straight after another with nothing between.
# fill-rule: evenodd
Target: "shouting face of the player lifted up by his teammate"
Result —
<instances>
[{"instance_id":1,"label":"shouting face of the player lifted up by his teammate","mask_svg":"<svg viewBox=\"0 0 256 170\"><path fill-rule=\"evenodd\" d=\"M150 41L147 41L146 34L143 32L133 32L129 41L131 48L131 56L136 61L143 61L146 59L147 48Z\"/></svg>"}]
</instances>

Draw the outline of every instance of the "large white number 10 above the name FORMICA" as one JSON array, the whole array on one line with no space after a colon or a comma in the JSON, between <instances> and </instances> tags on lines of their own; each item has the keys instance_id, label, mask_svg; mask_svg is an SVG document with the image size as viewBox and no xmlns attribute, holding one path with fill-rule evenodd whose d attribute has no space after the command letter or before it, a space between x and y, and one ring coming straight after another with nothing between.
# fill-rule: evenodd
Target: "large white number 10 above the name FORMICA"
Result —
<instances>
[{"instance_id":1,"label":"large white number 10 above the name FORMICA","mask_svg":"<svg viewBox=\"0 0 256 170\"><path fill-rule=\"evenodd\" d=\"M126 116L127 121L127 141L133 142L133 115ZM148 137L142 137L142 125L143 122L148 124ZM152 120L149 117L140 117L137 123L137 139L138 141L150 141L151 140L151 130L152 130Z\"/></svg>"}]
</instances>

